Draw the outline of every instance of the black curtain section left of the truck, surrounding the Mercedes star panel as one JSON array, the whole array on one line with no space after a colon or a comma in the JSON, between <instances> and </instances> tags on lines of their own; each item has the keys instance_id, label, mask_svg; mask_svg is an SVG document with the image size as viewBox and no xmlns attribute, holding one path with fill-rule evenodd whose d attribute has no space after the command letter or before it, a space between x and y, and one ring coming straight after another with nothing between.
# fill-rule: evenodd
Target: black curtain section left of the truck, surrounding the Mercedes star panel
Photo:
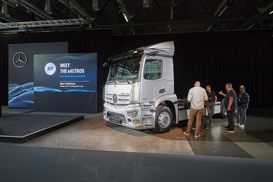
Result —
<instances>
[{"instance_id":1,"label":"black curtain section left of the truck, surrounding the Mercedes star panel","mask_svg":"<svg viewBox=\"0 0 273 182\"><path fill-rule=\"evenodd\" d=\"M97 110L102 110L102 88L105 81L102 64L111 56L111 30L70 30L41 33L0 34L0 95L3 105L8 104L9 44L36 42L68 42L69 53L97 52Z\"/></svg>"}]
</instances>

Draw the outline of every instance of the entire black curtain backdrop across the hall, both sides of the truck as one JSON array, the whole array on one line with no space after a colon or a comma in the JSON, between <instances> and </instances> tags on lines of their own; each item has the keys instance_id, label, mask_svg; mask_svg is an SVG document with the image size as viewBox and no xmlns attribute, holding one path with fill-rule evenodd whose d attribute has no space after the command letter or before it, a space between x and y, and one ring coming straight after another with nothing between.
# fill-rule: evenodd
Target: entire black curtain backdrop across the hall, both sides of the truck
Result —
<instances>
[{"instance_id":1,"label":"entire black curtain backdrop across the hall, both sides of the truck","mask_svg":"<svg viewBox=\"0 0 273 182\"><path fill-rule=\"evenodd\" d=\"M245 85L251 107L272 107L272 38L270 30L156 35L114 35L110 30L70 30L43 33L0 34L0 94L8 103L8 45L35 42L68 42L68 52L97 52L97 108L102 110L102 88L107 69L103 62L111 55L157 42L173 40L175 91L187 96L196 80L225 90L225 83L238 91Z\"/></svg>"}]
</instances>

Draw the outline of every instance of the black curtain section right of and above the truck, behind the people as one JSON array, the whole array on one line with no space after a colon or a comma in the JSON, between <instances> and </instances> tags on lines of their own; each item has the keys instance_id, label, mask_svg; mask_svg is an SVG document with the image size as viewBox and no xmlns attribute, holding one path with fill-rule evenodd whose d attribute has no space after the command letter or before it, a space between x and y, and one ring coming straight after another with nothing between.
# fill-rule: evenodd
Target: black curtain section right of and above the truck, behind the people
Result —
<instances>
[{"instance_id":1,"label":"black curtain section right of and above the truck, behind the people","mask_svg":"<svg viewBox=\"0 0 273 182\"><path fill-rule=\"evenodd\" d=\"M175 91L186 97L195 81L225 91L232 83L250 94L250 107L272 107L272 40L270 30L158 35L119 35L112 38L112 53L173 40ZM220 98L220 96L218 96Z\"/></svg>"}]
</instances>

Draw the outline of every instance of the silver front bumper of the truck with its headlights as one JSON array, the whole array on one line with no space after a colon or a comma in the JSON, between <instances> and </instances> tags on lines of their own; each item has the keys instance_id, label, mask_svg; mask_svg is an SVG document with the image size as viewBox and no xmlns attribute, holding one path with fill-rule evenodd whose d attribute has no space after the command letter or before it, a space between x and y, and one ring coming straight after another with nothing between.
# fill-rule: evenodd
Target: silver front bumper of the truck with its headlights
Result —
<instances>
[{"instance_id":1,"label":"silver front bumper of the truck with its headlights","mask_svg":"<svg viewBox=\"0 0 273 182\"><path fill-rule=\"evenodd\" d=\"M154 128L154 115L149 112L149 110L142 110L139 104L116 108L104 103L103 118L110 123L143 130Z\"/></svg>"}]
</instances>

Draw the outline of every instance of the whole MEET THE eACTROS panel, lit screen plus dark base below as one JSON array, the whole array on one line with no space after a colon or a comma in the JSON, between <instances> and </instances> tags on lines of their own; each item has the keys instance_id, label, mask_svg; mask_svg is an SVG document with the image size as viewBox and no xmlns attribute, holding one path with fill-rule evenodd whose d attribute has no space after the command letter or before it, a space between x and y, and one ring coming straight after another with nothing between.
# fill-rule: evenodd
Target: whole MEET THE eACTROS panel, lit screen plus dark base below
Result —
<instances>
[{"instance_id":1,"label":"whole MEET THE eACTROS panel, lit screen plus dark base below","mask_svg":"<svg viewBox=\"0 0 273 182\"><path fill-rule=\"evenodd\" d=\"M34 55L34 111L97 112L97 53Z\"/></svg>"}]
</instances>

